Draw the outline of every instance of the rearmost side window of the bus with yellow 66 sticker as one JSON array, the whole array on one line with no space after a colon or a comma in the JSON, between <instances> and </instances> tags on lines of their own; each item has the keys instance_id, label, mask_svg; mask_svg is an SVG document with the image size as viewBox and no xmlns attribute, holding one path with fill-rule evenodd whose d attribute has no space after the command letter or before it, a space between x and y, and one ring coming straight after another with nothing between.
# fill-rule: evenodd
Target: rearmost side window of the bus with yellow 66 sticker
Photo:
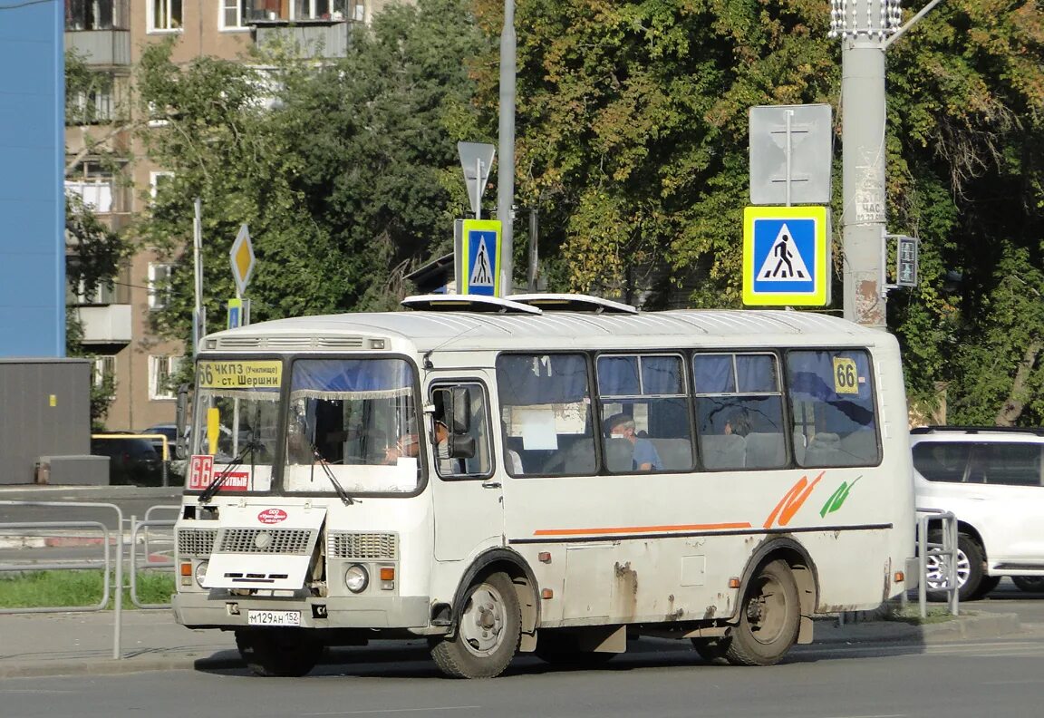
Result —
<instances>
[{"instance_id":1,"label":"rearmost side window of the bus with yellow 66 sticker","mask_svg":"<svg viewBox=\"0 0 1044 718\"><path fill-rule=\"evenodd\" d=\"M801 465L870 465L880 460L870 357L862 351L787 353Z\"/></svg>"}]
</instances>

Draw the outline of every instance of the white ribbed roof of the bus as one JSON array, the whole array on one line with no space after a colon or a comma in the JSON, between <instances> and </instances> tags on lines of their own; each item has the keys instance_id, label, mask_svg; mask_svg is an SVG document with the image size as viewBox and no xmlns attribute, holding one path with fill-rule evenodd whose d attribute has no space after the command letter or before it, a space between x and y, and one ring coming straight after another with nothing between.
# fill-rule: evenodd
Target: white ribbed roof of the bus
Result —
<instances>
[{"instance_id":1,"label":"white ribbed roof of the bus","mask_svg":"<svg viewBox=\"0 0 1044 718\"><path fill-rule=\"evenodd\" d=\"M886 338L885 338L886 337ZM357 312L263 321L215 332L206 351L295 352L379 349L372 339L407 342L418 352L878 344L886 332L821 313L784 310L663 312L469 311Z\"/></svg>"}]
</instances>

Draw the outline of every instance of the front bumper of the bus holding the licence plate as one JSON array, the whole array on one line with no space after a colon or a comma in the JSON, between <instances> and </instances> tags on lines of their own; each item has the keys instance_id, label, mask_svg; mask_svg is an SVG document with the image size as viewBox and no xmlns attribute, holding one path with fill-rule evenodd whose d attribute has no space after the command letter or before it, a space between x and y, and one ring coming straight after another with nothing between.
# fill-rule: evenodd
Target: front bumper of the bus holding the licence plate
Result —
<instances>
[{"instance_id":1,"label":"front bumper of the bus holding the licence plate","mask_svg":"<svg viewBox=\"0 0 1044 718\"><path fill-rule=\"evenodd\" d=\"M185 593L176 594L171 603L174 620L189 628L266 625L252 624L252 611L265 612L267 620L272 616L285 620L285 612L295 612L298 622L281 625L301 628L424 628L431 611L427 596L274 599Z\"/></svg>"}]
</instances>

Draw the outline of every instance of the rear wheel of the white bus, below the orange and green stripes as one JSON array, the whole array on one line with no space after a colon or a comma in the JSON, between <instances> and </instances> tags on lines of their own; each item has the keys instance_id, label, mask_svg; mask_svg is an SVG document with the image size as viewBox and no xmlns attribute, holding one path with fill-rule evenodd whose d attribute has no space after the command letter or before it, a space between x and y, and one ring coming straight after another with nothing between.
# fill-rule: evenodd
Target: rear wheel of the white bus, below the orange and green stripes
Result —
<instances>
[{"instance_id":1,"label":"rear wheel of the white bus, below the orange and green stripes","mask_svg":"<svg viewBox=\"0 0 1044 718\"><path fill-rule=\"evenodd\" d=\"M801 597L786 561L761 567L748 584L739 625L725 642L725 657L734 666L772 666L798 641Z\"/></svg>"}]
</instances>

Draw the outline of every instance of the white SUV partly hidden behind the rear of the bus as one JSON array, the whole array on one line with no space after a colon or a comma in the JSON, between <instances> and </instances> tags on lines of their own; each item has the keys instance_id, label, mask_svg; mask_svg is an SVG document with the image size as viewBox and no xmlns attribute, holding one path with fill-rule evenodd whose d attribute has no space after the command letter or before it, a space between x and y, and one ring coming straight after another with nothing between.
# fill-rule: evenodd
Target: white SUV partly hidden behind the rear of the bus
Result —
<instances>
[{"instance_id":1,"label":"white SUV partly hidden behind the rear of the bus","mask_svg":"<svg viewBox=\"0 0 1044 718\"><path fill-rule=\"evenodd\" d=\"M959 600L981 598L1001 576L1044 591L1044 429L923 427L910 445L917 507L957 518ZM929 590L939 569L929 559Z\"/></svg>"}]
</instances>

